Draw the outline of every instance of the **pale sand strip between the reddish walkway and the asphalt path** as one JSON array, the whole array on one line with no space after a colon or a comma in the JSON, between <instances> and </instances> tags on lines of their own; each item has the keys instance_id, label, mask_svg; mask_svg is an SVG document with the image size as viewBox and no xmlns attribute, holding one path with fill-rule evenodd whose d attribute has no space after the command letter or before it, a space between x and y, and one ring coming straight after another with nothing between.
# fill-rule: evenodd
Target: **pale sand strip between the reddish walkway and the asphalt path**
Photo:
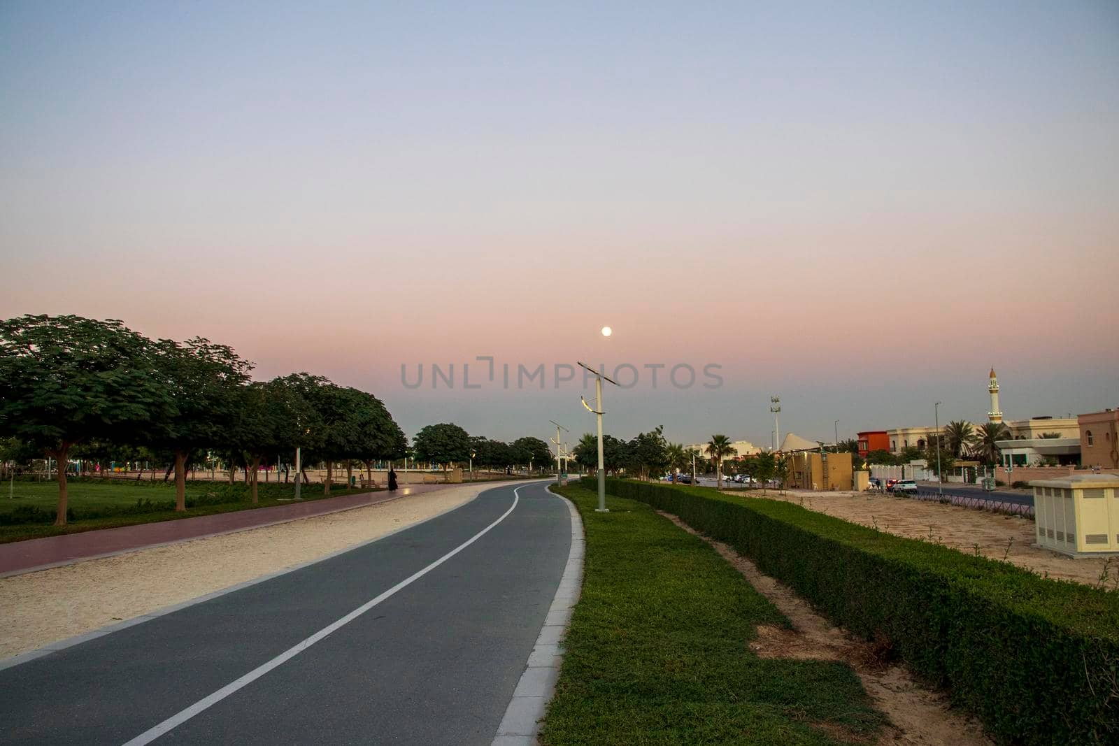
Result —
<instances>
[{"instance_id":1,"label":"pale sand strip between the reddish walkway and the asphalt path","mask_svg":"<svg viewBox=\"0 0 1119 746\"><path fill-rule=\"evenodd\" d=\"M464 484L115 557L0 578L0 658L213 593L385 536L472 500Z\"/></svg>"}]
</instances>

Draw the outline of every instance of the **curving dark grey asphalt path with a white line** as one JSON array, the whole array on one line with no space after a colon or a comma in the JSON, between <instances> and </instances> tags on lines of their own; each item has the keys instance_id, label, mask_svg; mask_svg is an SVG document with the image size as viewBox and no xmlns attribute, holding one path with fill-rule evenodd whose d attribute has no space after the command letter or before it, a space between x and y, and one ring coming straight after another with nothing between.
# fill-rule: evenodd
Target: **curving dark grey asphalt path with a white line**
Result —
<instances>
[{"instance_id":1,"label":"curving dark grey asphalt path with a white line","mask_svg":"<svg viewBox=\"0 0 1119 746\"><path fill-rule=\"evenodd\" d=\"M567 561L545 488L4 669L0 740L489 744Z\"/></svg>"}]
</instances>

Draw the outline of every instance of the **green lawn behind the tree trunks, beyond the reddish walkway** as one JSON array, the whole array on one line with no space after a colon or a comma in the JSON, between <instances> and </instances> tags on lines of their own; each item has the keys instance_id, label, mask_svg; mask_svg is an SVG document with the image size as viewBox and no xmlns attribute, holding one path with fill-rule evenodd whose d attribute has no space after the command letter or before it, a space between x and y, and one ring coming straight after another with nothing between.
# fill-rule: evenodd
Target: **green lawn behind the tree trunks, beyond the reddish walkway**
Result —
<instances>
[{"instance_id":1,"label":"green lawn behind the tree trunks, beyond the reddish walkway","mask_svg":"<svg viewBox=\"0 0 1119 746\"><path fill-rule=\"evenodd\" d=\"M344 474L345 479L345 474ZM13 498L9 498L9 487ZM250 500L248 485L238 481L228 482L187 482L186 512L175 511L175 483L157 480L101 480L73 479L67 485L69 508L74 520L66 526L53 526L58 508L58 484L56 482L13 482L0 485L0 544L19 541L60 533L76 533L100 528L133 526L153 521L176 520L194 516L250 510L286 504L284 498L294 497L295 487L292 483L261 482L257 489L260 503ZM331 497L369 492L370 490L349 490L333 484ZM301 497L307 500L322 498L321 484L304 484ZM37 508L49 513L46 522L12 522L13 512L22 509Z\"/></svg>"}]
</instances>

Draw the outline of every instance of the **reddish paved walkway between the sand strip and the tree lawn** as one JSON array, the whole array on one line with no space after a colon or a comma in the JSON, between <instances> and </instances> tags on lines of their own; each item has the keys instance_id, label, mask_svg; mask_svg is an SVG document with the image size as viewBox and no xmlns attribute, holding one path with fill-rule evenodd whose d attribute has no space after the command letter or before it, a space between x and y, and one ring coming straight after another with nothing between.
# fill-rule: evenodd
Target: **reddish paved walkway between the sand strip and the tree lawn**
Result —
<instances>
[{"instance_id":1,"label":"reddish paved walkway between the sand strip and the tree lawn","mask_svg":"<svg viewBox=\"0 0 1119 746\"><path fill-rule=\"evenodd\" d=\"M0 577L69 565L85 559L109 557L143 547L175 544L204 536L232 533L245 529L285 523L300 518L326 516L340 510L373 506L411 494L432 492L458 484L405 484L396 492L363 492L321 500L292 502L274 508L237 510L229 513L180 518L179 520L106 528L81 533L49 536L0 544Z\"/></svg>"}]
</instances>

